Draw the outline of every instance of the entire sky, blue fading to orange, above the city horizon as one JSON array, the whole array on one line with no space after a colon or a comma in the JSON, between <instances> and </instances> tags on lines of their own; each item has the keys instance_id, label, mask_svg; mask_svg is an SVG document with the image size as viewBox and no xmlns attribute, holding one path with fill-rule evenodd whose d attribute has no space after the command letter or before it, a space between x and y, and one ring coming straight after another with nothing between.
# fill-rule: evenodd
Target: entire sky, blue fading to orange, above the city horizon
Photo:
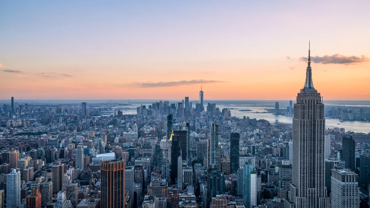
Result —
<instances>
[{"instance_id":1,"label":"entire sky, blue fading to orange, above the city horizon","mask_svg":"<svg viewBox=\"0 0 370 208\"><path fill-rule=\"evenodd\" d=\"M0 99L370 100L362 1L0 1Z\"/></svg>"}]
</instances>

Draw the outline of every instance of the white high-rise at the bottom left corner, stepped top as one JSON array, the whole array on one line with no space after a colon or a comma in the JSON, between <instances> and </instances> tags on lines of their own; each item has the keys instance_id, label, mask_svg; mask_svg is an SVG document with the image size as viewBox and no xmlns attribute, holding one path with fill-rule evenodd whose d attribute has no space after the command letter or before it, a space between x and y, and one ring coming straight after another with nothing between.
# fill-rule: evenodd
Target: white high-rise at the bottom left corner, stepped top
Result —
<instances>
[{"instance_id":1,"label":"white high-rise at the bottom left corner, stepped top","mask_svg":"<svg viewBox=\"0 0 370 208\"><path fill-rule=\"evenodd\" d=\"M6 207L16 208L21 203L21 172L13 169L6 174Z\"/></svg>"}]
</instances>

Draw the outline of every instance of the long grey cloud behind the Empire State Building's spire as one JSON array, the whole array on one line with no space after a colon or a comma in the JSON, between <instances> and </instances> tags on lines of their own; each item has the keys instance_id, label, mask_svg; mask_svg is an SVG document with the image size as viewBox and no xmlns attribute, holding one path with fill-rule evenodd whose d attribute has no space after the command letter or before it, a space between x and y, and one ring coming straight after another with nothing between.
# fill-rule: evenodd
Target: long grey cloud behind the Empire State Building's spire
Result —
<instances>
[{"instance_id":1,"label":"long grey cloud behind the Empire State Building's spire","mask_svg":"<svg viewBox=\"0 0 370 208\"><path fill-rule=\"evenodd\" d=\"M299 57L300 61L308 61L307 57ZM333 56L325 55L323 57L313 56L311 57L313 63L321 64L358 64L370 61L370 58L366 56L344 56L340 54L334 54Z\"/></svg>"}]
</instances>

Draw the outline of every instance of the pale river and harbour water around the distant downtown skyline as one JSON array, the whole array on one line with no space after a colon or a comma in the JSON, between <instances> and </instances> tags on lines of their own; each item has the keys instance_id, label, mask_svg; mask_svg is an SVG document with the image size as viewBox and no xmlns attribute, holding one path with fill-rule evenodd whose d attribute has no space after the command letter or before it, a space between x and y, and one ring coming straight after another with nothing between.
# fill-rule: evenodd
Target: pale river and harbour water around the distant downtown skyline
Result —
<instances>
[{"instance_id":1,"label":"pale river and harbour water around the distant downtown skyline","mask_svg":"<svg viewBox=\"0 0 370 208\"><path fill-rule=\"evenodd\" d=\"M148 107L149 104L143 104ZM126 106L126 108L130 108L128 110L122 110L123 114L136 114L136 108L139 107L140 104L132 104ZM206 106L205 106L206 107ZM235 110L230 110L231 115L236 117L242 118L243 116L247 116L249 118L256 118L258 119L265 119L270 123L275 123L275 120L279 120L281 123L289 123L292 124L293 117L285 116L285 115L275 115L271 113L261 113L266 112L265 108L268 107L259 107L259 106L251 106L251 105L216 105L222 110L222 108L235 108ZM119 108L119 107L117 107ZM118 109L117 109L118 110ZM251 111L239 111L239 110L251 110ZM255 113L256 111L260 113ZM114 113L106 114L106 115L114 115ZM338 125L339 124L339 125ZM346 131L354 131L354 132L370 132L370 123L361 122L361 121L344 121L340 122L338 119L334 118L326 118L326 128L344 128Z\"/></svg>"}]
</instances>

